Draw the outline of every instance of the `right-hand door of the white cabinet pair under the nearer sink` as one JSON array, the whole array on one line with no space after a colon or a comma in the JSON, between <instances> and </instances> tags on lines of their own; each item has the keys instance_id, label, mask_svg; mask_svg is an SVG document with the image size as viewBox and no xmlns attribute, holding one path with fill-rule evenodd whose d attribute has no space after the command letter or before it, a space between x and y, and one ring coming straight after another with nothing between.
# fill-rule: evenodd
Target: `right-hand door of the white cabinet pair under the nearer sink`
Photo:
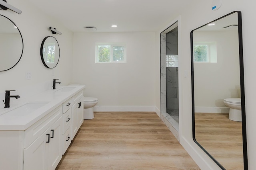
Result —
<instances>
[{"instance_id":1,"label":"right-hand door of the white cabinet pair under the nearer sink","mask_svg":"<svg viewBox=\"0 0 256 170\"><path fill-rule=\"evenodd\" d=\"M55 170L62 158L62 118L58 119L49 129L50 143L48 150L48 170Z\"/></svg>"}]
</instances>

